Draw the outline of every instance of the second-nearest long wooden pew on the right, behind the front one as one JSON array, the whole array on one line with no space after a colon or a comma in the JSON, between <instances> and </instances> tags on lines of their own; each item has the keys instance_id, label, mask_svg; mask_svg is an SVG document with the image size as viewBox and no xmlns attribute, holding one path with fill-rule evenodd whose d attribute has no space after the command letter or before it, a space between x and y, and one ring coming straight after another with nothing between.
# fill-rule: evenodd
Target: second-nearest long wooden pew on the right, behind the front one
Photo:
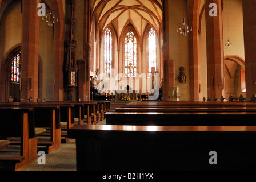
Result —
<instances>
[{"instance_id":1,"label":"second-nearest long wooden pew on the right, behind the front one","mask_svg":"<svg viewBox=\"0 0 256 182\"><path fill-rule=\"evenodd\" d=\"M254 126L256 112L105 113L107 125Z\"/></svg>"}]
</instances>

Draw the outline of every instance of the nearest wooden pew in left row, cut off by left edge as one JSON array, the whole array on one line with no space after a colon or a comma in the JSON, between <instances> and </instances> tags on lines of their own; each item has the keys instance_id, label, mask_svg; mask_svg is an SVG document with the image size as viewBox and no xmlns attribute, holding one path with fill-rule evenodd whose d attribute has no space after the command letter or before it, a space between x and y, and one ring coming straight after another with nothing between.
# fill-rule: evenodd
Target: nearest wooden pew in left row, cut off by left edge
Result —
<instances>
[{"instance_id":1,"label":"nearest wooden pew in left row, cut off by left edge","mask_svg":"<svg viewBox=\"0 0 256 182\"><path fill-rule=\"evenodd\" d=\"M0 136L21 138L18 155L1 153L0 170L20 170L37 160L37 139L45 129L36 130L31 108L1 107L0 115Z\"/></svg>"}]
</instances>

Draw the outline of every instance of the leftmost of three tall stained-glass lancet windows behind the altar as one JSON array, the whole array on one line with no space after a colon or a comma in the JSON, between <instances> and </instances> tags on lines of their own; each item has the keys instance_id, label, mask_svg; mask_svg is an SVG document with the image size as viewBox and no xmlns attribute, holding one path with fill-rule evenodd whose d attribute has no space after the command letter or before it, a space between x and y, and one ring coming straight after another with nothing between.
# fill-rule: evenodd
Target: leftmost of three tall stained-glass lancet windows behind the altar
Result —
<instances>
[{"instance_id":1,"label":"leftmost of three tall stained-glass lancet windows behind the altar","mask_svg":"<svg viewBox=\"0 0 256 182\"><path fill-rule=\"evenodd\" d=\"M111 76L112 60L113 60L113 44L112 44L112 33L107 28L105 31L105 48L104 48L104 74L105 76Z\"/></svg>"}]
</instances>

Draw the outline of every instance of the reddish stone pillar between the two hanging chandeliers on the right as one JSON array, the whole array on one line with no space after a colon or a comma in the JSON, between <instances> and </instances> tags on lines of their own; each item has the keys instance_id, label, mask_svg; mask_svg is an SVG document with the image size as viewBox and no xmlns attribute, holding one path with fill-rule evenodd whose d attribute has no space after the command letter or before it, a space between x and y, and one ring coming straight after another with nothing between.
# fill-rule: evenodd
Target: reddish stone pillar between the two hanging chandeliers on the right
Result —
<instances>
[{"instance_id":1,"label":"reddish stone pillar between the two hanging chandeliers on the right","mask_svg":"<svg viewBox=\"0 0 256 182\"><path fill-rule=\"evenodd\" d=\"M210 3L217 5L217 16L211 17L209 11ZM219 100L225 97L225 67L224 67L224 45L222 25L222 3L221 0L205 0L206 18L206 48L207 48L207 88L208 96Z\"/></svg>"}]
</instances>

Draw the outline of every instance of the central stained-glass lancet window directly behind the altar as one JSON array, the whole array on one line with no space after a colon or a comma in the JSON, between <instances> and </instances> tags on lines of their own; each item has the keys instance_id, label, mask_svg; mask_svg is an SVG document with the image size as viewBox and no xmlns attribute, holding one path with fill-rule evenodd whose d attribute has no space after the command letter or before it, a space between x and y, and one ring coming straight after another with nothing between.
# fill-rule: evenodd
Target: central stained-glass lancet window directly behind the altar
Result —
<instances>
[{"instance_id":1,"label":"central stained-glass lancet window directly behind the altar","mask_svg":"<svg viewBox=\"0 0 256 182\"><path fill-rule=\"evenodd\" d=\"M137 76L137 38L133 32L125 37L125 77Z\"/></svg>"}]
</instances>

